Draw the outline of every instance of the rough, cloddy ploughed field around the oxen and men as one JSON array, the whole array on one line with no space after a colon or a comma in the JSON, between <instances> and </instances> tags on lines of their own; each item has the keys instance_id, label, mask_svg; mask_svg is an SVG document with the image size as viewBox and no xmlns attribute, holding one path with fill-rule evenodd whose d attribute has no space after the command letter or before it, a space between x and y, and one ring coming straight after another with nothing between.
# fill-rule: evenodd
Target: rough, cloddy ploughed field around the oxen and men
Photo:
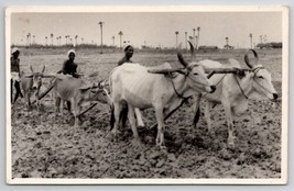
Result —
<instances>
[{"instance_id":1,"label":"rough, cloddy ploughed field around the oxen and men","mask_svg":"<svg viewBox=\"0 0 294 191\"><path fill-rule=\"evenodd\" d=\"M259 50L260 64L272 72L273 85L281 96L282 58L280 50ZM226 61L236 58L243 65L244 50L198 53L197 59ZM188 57L188 53L184 54ZM89 81L108 78L122 57L121 53L99 54L95 49L77 49L76 63L81 72L99 71ZM21 68L32 65L55 72L66 59L66 49L22 49ZM175 53L135 53L133 61L145 66L170 61L176 65ZM243 65L243 67L246 67ZM44 80L44 90L48 86ZM236 147L227 146L224 108L211 112L214 133L208 134L200 117L193 130L193 110L185 104L166 121L166 150L155 146L153 110L143 111L145 127L139 128L142 144L134 145L130 126L120 130L117 142L108 138L109 106L98 104L83 116L74 128L67 111L54 123L54 101L50 96L28 111L20 99L11 109L12 178L281 178L281 102L250 101L249 109L236 117ZM202 101L204 109L204 101ZM204 111L204 110L203 110ZM192 133L194 132L194 133Z\"/></svg>"}]
</instances>

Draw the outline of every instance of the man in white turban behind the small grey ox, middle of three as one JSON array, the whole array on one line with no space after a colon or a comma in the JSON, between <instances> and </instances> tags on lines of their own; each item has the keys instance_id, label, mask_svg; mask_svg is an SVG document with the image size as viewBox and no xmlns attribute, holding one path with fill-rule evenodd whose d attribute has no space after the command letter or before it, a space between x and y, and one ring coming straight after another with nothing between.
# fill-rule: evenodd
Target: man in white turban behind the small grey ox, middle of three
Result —
<instances>
[{"instance_id":1,"label":"man in white turban behind the small grey ox, middle of three","mask_svg":"<svg viewBox=\"0 0 294 191\"><path fill-rule=\"evenodd\" d=\"M57 74L72 75L73 77L78 78L77 64L74 63L76 52L74 49L69 49L67 52L67 57L68 59L64 61L63 68L57 71Z\"/></svg>"}]
</instances>

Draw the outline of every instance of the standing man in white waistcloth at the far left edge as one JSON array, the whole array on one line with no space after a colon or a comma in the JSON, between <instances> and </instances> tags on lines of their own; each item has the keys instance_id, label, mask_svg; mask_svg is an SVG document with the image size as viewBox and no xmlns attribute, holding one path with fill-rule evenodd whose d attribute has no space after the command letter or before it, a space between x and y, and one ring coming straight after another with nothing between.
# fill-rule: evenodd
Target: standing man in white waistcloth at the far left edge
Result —
<instances>
[{"instance_id":1,"label":"standing man in white waistcloth at the far left edge","mask_svg":"<svg viewBox=\"0 0 294 191\"><path fill-rule=\"evenodd\" d=\"M11 49L11 57L10 57L10 68L11 68L11 102L15 103L19 96L23 98L23 94L21 92L20 88L20 50L19 48L14 47ZM15 97L14 100L12 98L13 93L13 85L15 87Z\"/></svg>"}]
</instances>

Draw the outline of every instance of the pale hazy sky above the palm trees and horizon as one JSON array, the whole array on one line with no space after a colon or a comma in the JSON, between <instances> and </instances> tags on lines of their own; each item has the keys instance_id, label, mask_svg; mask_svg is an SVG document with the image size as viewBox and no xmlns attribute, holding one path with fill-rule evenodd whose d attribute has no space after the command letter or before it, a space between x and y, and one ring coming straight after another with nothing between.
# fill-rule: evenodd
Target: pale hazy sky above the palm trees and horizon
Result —
<instances>
[{"instance_id":1,"label":"pale hazy sky above the palm trees and horizon","mask_svg":"<svg viewBox=\"0 0 294 191\"><path fill-rule=\"evenodd\" d=\"M122 40L130 41L134 46L171 47L176 44L175 31L178 31L178 42L184 42L185 32L193 36L193 29L200 27L199 45L217 45L224 47L225 37L229 44L237 47L250 47L249 34L253 34L253 43L260 42L260 35L266 35L268 42L282 41L281 12L176 12L176 13L12 13L11 41L13 44L26 43L26 34L35 35L36 43L45 43L45 36L54 34L74 38L84 37L85 43L100 44L100 26L104 24L104 44L119 46L119 31Z\"/></svg>"}]
</instances>

